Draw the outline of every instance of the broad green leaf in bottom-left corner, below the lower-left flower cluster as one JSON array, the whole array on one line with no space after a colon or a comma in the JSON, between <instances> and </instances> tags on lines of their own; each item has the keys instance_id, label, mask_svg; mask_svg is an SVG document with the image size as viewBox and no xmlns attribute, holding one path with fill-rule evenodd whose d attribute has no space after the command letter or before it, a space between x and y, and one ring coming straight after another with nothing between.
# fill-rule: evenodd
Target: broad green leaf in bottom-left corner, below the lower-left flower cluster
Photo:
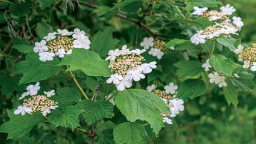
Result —
<instances>
[{"instance_id":1,"label":"broad green leaf in bottom-left corner, below the lower-left flower cluster","mask_svg":"<svg viewBox=\"0 0 256 144\"><path fill-rule=\"evenodd\" d=\"M10 121L0 126L0 132L8 133L7 139L18 139L19 137L25 136L25 134L30 133L34 125L44 121L40 113L22 116L14 115L13 112L13 110L7 110Z\"/></svg>"}]
</instances>

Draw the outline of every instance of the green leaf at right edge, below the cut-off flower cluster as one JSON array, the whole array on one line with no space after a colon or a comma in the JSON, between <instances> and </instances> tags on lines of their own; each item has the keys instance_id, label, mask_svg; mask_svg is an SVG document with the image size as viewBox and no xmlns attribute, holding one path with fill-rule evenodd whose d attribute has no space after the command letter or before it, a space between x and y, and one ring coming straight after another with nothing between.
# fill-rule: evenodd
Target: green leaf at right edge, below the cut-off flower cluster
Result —
<instances>
[{"instance_id":1,"label":"green leaf at right edge, below the cut-off flower cluster","mask_svg":"<svg viewBox=\"0 0 256 144\"><path fill-rule=\"evenodd\" d=\"M254 79L254 74L250 74L246 71L243 71L239 74L239 77L230 77L232 84L236 87L252 90L255 88L255 83L252 81Z\"/></svg>"}]
</instances>

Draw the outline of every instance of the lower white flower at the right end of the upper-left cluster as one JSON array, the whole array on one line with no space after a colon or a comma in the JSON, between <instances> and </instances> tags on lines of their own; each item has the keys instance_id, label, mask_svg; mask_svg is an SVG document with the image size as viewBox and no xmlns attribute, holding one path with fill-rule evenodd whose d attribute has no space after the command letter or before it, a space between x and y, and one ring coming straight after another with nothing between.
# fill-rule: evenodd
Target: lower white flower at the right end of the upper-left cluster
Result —
<instances>
[{"instance_id":1,"label":"lower white flower at the right end of the upper-left cluster","mask_svg":"<svg viewBox=\"0 0 256 144\"><path fill-rule=\"evenodd\" d=\"M90 49L90 40L86 35L80 35L73 41L73 47L81 49Z\"/></svg>"}]
</instances>

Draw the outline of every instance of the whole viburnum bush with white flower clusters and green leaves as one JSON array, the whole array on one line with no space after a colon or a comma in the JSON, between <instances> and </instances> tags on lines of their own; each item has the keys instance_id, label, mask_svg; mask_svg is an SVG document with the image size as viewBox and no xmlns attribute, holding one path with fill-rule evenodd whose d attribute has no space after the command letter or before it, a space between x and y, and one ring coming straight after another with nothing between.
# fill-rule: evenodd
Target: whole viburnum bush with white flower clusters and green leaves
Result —
<instances>
[{"instance_id":1,"label":"whole viburnum bush with white flower clusters and green leaves","mask_svg":"<svg viewBox=\"0 0 256 144\"><path fill-rule=\"evenodd\" d=\"M3 143L152 143L167 125L178 131L194 98L219 91L237 107L237 90L255 88L256 44L242 44L244 23L221 1L0 9Z\"/></svg>"}]
</instances>

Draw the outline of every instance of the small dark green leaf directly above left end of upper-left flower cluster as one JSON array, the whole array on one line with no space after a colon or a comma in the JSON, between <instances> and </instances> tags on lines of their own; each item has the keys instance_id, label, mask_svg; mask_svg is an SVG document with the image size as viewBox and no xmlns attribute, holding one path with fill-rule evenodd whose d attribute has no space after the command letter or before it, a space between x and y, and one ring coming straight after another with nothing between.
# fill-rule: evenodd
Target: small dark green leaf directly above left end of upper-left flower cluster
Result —
<instances>
[{"instance_id":1,"label":"small dark green leaf directly above left end of upper-left flower cluster","mask_svg":"<svg viewBox=\"0 0 256 144\"><path fill-rule=\"evenodd\" d=\"M43 39L49 32L53 32L52 26L45 22L37 23L36 34Z\"/></svg>"}]
</instances>

